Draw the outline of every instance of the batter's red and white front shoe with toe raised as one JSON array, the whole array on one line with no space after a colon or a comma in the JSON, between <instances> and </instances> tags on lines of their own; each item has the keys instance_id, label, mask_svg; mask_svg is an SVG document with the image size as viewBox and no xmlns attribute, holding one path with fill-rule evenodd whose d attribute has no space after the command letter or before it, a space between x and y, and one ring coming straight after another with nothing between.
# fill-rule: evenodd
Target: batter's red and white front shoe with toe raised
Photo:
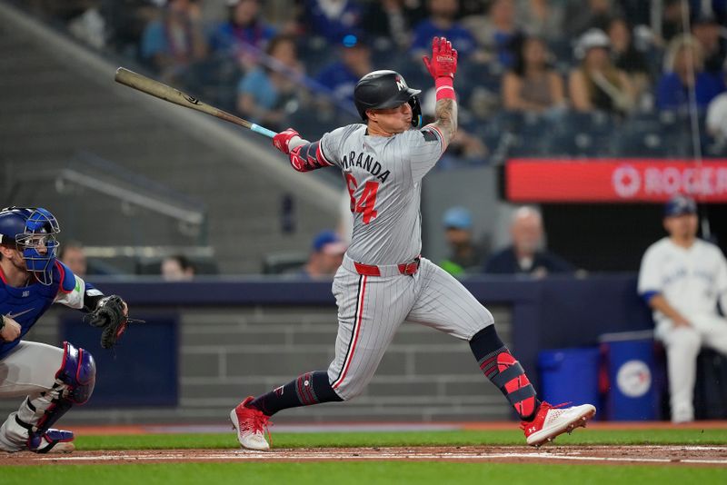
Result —
<instances>
[{"instance_id":1,"label":"batter's red and white front shoe with toe raised","mask_svg":"<svg viewBox=\"0 0 727 485\"><path fill-rule=\"evenodd\" d=\"M563 404L553 406L543 401L533 421L522 421L520 427L531 446L541 446L546 441L576 428L585 428L586 422L593 418L596 409L591 404L562 408Z\"/></svg>"}]
</instances>

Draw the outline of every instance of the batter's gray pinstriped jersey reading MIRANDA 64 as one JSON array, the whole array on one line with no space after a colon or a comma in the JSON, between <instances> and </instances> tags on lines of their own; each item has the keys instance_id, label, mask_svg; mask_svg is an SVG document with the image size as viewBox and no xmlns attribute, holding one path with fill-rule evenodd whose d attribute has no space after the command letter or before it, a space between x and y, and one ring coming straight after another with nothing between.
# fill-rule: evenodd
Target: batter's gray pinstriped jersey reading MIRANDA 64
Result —
<instances>
[{"instance_id":1,"label":"batter's gray pinstriped jersey reading MIRANDA 64","mask_svg":"<svg viewBox=\"0 0 727 485\"><path fill-rule=\"evenodd\" d=\"M422 178L443 153L433 126L390 137L349 124L321 138L324 158L341 168L352 194L354 234L348 256L366 264L398 264L422 251Z\"/></svg>"}]
</instances>

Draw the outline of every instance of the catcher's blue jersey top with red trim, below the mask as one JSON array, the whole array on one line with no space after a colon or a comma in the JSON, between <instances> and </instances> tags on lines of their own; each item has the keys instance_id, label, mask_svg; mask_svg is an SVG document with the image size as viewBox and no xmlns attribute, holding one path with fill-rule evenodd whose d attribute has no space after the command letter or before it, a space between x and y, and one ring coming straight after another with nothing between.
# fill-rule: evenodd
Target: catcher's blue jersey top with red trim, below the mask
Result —
<instances>
[{"instance_id":1,"label":"catcher's blue jersey top with red trim, below the mask","mask_svg":"<svg viewBox=\"0 0 727 485\"><path fill-rule=\"evenodd\" d=\"M53 282L49 285L35 282L24 288L15 288L5 282L5 275L0 272L0 313L11 317L23 329L20 338L15 341L0 341L0 359L3 359L25 337L35 322L53 304L58 292L72 292L74 288L74 273L59 261L55 262Z\"/></svg>"}]
</instances>

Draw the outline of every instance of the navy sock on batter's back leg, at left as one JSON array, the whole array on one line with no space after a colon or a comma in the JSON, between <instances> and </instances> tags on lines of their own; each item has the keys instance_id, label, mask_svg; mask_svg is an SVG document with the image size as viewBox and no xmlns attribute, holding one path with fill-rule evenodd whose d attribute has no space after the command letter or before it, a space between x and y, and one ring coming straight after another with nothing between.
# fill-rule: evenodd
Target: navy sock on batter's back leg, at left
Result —
<instances>
[{"instance_id":1,"label":"navy sock on batter's back leg, at left","mask_svg":"<svg viewBox=\"0 0 727 485\"><path fill-rule=\"evenodd\" d=\"M335 393L328 381L328 372L306 372L294 381L258 396L248 404L249 407L263 411L268 416L277 411L300 406L310 406L319 402L344 401Z\"/></svg>"}]
</instances>

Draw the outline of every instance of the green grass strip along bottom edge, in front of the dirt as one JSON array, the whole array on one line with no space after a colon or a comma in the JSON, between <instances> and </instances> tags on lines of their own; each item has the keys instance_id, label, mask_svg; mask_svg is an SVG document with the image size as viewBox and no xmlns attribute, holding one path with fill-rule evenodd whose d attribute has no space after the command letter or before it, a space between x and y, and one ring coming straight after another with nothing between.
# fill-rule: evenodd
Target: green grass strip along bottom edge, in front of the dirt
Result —
<instances>
[{"instance_id":1,"label":"green grass strip along bottom edge, in front of the dirt","mask_svg":"<svg viewBox=\"0 0 727 485\"><path fill-rule=\"evenodd\" d=\"M633 484L725 483L727 470L643 466L574 466L451 462L184 463L174 465L64 465L0 468L2 483L129 483L134 485L204 483L449 484L537 483ZM73 480L73 481L71 481Z\"/></svg>"}]
</instances>

